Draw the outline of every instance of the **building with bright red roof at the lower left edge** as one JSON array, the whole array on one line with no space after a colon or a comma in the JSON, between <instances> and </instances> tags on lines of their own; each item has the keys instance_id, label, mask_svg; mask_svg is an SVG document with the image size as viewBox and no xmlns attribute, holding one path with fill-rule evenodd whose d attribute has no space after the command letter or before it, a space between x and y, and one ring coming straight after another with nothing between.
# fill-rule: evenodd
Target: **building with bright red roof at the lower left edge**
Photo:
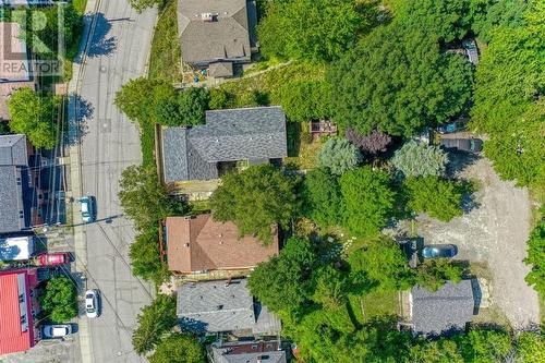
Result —
<instances>
[{"instance_id":1,"label":"building with bright red roof at the lower left edge","mask_svg":"<svg viewBox=\"0 0 545 363\"><path fill-rule=\"evenodd\" d=\"M34 347L37 285L36 268L0 271L0 355Z\"/></svg>"}]
</instances>

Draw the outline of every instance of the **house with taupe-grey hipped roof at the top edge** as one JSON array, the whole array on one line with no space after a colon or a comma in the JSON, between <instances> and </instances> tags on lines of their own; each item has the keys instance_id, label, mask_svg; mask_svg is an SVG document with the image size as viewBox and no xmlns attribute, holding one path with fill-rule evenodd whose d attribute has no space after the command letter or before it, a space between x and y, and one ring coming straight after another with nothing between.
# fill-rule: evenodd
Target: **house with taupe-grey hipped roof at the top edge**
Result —
<instances>
[{"instance_id":1,"label":"house with taupe-grey hipped roof at the top edge","mask_svg":"<svg viewBox=\"0 0 545 363\"><path fill-rule=\"evenodd\" d=\"M254 0L179 0L182 61L210 66L210 76L232 76L232 64L249 63L257 50L256 24Z\"/></svg>"}]
</instances>

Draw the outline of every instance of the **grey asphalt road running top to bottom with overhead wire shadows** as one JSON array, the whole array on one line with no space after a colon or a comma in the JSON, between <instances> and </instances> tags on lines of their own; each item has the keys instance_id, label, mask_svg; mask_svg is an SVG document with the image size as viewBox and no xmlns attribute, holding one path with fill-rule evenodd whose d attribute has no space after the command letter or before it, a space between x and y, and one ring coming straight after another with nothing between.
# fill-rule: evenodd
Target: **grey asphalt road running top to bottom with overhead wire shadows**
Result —
<instances>
[{"instance_id":1,"label":"grey asphalt road running top to bottom with overhead wire shadows","mask_svg":"<svg viewBox=\"0 0 545 363\"><path fill-rule=\"evenodd\" d=\"M121 171L142 160L138 130L113 105L116 92L145 73L156 11L137 14L124 0L104 0L81 77L82 192L97 202L96 223L84 228L87 289L99 289L101 316L89 319L94 362L145 362L131 335L153 289L131 275L129 246L135 231L118 199Z\"/></svg>"}]
</instances>

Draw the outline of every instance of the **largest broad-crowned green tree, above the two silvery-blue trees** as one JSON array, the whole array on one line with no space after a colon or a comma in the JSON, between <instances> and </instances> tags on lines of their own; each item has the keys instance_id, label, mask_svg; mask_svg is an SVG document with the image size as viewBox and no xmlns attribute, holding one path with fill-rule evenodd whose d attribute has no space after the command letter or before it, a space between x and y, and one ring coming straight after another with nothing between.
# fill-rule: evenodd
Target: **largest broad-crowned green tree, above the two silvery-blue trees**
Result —
<instances>
[{"instance_id":1,"label":"largest broad-crowned green tree, above the two silvery-blue trees","mask_svg":"<svg viewBox=\"0 0 545 363\"><path fill-rule=\"evenodd\" d=\"M458 16L443 16L449 15ZM437 20L425 9L400 11L331 66L328 78L338 123L364 134L378 130L411 136L464 109L471 97L471 65L459 55L444 52L441 36L422 26L428 21Z\"/></svg>"}]
</instances>

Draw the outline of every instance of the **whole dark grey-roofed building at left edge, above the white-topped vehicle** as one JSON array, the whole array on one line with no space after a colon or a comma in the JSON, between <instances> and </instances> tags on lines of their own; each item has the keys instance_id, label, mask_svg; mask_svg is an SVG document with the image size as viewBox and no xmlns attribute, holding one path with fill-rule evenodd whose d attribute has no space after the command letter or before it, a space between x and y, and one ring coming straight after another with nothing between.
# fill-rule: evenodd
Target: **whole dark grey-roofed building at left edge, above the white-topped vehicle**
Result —
<instances>
[{"instance_id":1,"label":"whole dark grey-roofed building at left edge, above the white-topped vehicle","mask_svg":"<svg viewBox=\"0 0 545 363\"><path fill-rule=\"evenodd\" d=\"M29 225L23 197L26 167L26 136L0 135L0 233L17 232Z\"/></svg>"}]
</instances>

